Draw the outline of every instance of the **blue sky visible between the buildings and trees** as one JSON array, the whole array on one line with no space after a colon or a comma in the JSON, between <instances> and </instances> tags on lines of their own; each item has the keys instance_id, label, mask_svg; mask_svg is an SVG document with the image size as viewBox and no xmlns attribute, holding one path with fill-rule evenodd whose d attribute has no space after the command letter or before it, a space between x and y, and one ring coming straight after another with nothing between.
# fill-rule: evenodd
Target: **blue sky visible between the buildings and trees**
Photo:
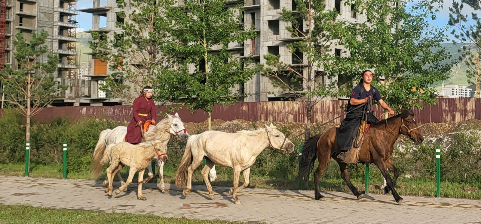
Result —
<instances>
[{"instance_id":1,"label":"blue sky visible between the buildings and trees","mask_svg":"<svg viewBox=\"0 0 481 224\"><path fill-rule=\"evenodd\" d=\"M105 6L107 0L100 0L100 6ZM437 13L437 19L435 21L431 21L431 26L436 27L444 27L447 25L449 19L449 10L448 8L452 5L451 0L444 0L443 9L441 12ZM77 9L87 9L92 7L92 0L79 0L77 2ZM470 7L465 7L463 9L465 14L470 14L472 9ZM78 31L85 31L92 28L92 14L79 12L77 15L77 21L79 22L80 28ZM105 17L100 17L100 27L105 26L106 19ZM450 29L451 30L451 29Z\"/></svg>"}]
</instances>

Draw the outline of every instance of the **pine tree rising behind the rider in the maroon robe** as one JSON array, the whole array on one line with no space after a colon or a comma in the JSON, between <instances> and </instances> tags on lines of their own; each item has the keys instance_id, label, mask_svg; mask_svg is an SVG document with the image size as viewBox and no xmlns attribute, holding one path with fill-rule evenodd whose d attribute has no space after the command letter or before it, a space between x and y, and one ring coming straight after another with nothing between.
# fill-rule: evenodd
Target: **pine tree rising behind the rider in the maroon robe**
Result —
<instances>
[{"instance_id":1,"label":"pine tree rising behind the rider in the maroon robe","mask_svg":"<svg viewBox=\"0 0 481 224\"><path fill-rule=\"evenodd\" d=\"M172 0L118 0L116 26L106 33L92 32L89 41L95 56L106 61L111 71L102 89L132 104L145 85L153 85L157 104L175 101L181 92L175 86L176 67L162 48L169 39L166 8Z\"/></svg>"}]
</instances>

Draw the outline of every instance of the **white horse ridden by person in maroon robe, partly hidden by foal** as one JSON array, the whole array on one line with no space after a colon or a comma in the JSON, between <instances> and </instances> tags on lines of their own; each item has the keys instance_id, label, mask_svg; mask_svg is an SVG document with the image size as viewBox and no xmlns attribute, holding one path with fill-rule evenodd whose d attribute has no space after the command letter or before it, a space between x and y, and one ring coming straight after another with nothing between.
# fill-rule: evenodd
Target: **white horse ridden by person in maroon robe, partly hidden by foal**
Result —
<instances>
[{"instance_id":1,"label":"white horse ridden by person in maroon robe, partly hidden by foal","mask_svg":"<svg viewBox=\"0 0 481 224\"><path fill-rule=\"evenodd\" d=\"M171 136L179 136L184 141L187 140L187 138L189 137L187 130L184 128L184 123L179 118L178 113L176 113L174 116L167 114L164 119L159 121L155 126L152 125L149 130L146 131L144 134L145 138L142 138L142 142L159 140L164 143L165 147L167 147L167 143L169 142ZM105 154L110 154L110 152L106 150L107 145L126 141L126 135L127 126L117 126L112 130L107 129L101 131L99 135L99 141L97 142L97 146L95 147L95 150L93 152L92 167L95 167L97 165L101 165L103 167L103 165L107 164L108 161L104 163L101 162ZM167 193L168 189L165 188L164 183L164 162L159 160L157 157L153 157L152 161L155 161L157 167L159 167L158 172L160 177L161 190L162 192ZM149 176L152 176L152 167L149 165L147 169L149 171ZM99 173L100 172L98 170L92 172L92 177L98 177ZM117 172L117 177L119 177L121 185L124 185L125 182L120 175L120 172ZM107 184L108 181L106 179L103 181L102 186L105 186Z\"/></svg>"}]
</instances>

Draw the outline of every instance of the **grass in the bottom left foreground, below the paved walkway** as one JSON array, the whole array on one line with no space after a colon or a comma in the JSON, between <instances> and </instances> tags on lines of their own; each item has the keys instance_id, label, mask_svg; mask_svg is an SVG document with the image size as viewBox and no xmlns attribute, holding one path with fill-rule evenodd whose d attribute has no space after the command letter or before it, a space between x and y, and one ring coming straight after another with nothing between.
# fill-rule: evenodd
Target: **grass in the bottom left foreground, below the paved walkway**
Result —
<instances>
[{"instance_id":1,"label":"grass in the bottom left foreground, below the paved walkway","mask_svg":"<svg viewBox=\"0 0 481 224\"><path fill-rule=\"evenodd\" d=\"M0 204L0 223L9 224L242 224L240 222L204 221L187 218L165 218L153 214L108 213L49 209L29 205Z\"/></svg>"}]
</instances>

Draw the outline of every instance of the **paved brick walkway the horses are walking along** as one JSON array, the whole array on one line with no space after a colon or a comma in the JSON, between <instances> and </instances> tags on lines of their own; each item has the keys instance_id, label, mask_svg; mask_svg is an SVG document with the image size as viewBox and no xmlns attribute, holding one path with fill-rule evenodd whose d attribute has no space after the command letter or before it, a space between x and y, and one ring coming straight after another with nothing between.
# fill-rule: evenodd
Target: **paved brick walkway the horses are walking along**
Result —
<instances>
[{"instance_id":1,"label":"paved brick walkway the horses are walking along","mask_svg":"<svg viewBox=\"0 0 481 224\"><path fill-rule=\"evenodd\" d=\"M226 196L228 188L214 188L214 200L208 199L203 186L194 186L186 199L180 198L175 186L170 188L169 195L154 183L144 185L147 200L142 201L132 184L127 192L109 199L98 181L0 176L0 203L285 224L481 224L481 200L405 196L406 202L397 204L391 195L354 200L352 194L323 192L328 199L316 201L314 191L244 189L239 194L242 204L237 205Z\"/></svg>"}]
</instances>

